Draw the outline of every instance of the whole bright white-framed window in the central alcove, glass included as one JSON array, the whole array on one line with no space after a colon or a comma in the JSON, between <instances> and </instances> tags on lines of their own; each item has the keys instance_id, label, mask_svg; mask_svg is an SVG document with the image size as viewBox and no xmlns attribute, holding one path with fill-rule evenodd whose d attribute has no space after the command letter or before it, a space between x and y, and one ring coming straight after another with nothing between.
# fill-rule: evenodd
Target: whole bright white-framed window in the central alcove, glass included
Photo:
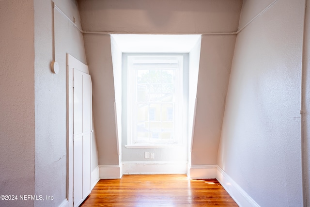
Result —
<instances>
[{"instance_id":1,"label":"whole bright white-framed window in the central alcove, glass included","mask_svg":"<svg viewBox=\"0 0 310 207\"><path fill-rule=\"evenodd\" d=\"M181 140L183 55L127 55L127 144Z\"/></svg>"}]
</instances>

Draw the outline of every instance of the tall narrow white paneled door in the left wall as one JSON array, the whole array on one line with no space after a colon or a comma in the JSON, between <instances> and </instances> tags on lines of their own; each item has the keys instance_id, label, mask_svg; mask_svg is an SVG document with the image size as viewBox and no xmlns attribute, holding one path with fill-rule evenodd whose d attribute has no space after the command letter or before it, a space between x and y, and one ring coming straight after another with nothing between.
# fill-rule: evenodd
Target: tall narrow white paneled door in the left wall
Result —
<instances>
[{"instance_id":1,"label":"tall narrow white paneled door in the left wall","mask_svg":"<svg viewBox=\"0 0 310 207\"><path fill-rule=\"evenodd\" d=\"M77 207L91 192L92 80L77 65L72 73L73 206Z\"/></svg>"}]
</instances>

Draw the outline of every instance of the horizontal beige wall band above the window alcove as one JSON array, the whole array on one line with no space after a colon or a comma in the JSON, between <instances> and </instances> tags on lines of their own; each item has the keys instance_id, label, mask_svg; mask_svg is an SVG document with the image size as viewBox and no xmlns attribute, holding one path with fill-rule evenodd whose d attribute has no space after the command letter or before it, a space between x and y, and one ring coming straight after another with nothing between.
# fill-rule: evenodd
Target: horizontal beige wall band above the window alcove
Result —
<instances>
[{"instance_id":1,"label":"horizontal beige wall band above the window alcove","mask_svg":"<svg viewBox=\"0 0 310 207\"><path fill-rule=\"evenodd\" d=\"M79 0L85 31L203 33L237 30L242 0Z\"/></svg>"}]
</instances>

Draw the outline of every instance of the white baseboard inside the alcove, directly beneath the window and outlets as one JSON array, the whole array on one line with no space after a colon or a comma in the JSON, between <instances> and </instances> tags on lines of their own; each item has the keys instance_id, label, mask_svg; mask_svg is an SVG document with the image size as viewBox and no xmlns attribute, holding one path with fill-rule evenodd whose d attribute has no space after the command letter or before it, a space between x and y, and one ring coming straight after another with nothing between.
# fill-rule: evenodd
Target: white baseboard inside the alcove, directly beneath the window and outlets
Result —
<instances>
[{"instance_id":1,"label":"white baseboard inside the alcove, directly beneath the window and outlets","mask_svg":"<svg viewBox=\"0 0 310 207\"><path fill-rule=\"evenodd\" d=\"M123 162L123 174L186 174L187 162Z\"/></svg>"}]
</instances>

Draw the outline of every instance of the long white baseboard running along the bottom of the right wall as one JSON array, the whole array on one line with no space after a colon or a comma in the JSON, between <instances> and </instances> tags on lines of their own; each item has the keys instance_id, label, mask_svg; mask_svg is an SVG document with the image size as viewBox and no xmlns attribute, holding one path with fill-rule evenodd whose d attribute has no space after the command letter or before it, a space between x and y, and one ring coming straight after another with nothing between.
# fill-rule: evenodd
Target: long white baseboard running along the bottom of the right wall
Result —
<instances>
[{"instance_id":1,"label":"long white baseboard running along the bottom of the right wall","mask_svg":"<svg viewBox=\"0 0 310 207\"><path fill-rule=\"evenodd\" d=\"M260 207L246 191L217 166L217 180L240 207Z\"/></svg>"}]
</instances>

